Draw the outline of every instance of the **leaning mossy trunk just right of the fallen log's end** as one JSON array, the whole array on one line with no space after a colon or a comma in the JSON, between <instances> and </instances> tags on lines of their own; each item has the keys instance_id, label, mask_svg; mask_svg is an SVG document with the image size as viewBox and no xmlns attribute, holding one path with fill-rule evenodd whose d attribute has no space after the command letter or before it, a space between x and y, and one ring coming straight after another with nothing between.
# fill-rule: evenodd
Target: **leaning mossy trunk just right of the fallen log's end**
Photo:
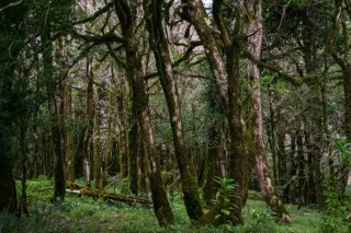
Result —
<instances>
[{"instance_id":1,"label":"leaning mossy trunk just right of the fallen log's end","mask_svg":"<svg viewBox=\"0 0 351 233\"><path fill-rule=\"evenodd\" d=\"M114 1L115 12L121 23L123 45L126 54L126 73L133 94L135 94L137 118L140 135L147 151L149 165L149 180L154 212L161 226L172 224L174 217L165 190L159 158L155 143L155 136L148 105L147 86L143 73L141 55L138 53L137 5L136 1Z\"/></svg>"}]
</instances>

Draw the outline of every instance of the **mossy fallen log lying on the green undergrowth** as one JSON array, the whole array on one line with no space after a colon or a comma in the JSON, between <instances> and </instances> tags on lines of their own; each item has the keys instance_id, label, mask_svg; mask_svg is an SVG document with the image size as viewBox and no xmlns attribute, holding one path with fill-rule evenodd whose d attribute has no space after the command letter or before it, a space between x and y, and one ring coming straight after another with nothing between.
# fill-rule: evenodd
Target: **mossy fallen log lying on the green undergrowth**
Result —
<instances>
[{"instance_id":1,"label":"mossy fallen log lying on the green undergrowth","mask_svg":"<svg viewBox=\"0 0 351 233\"><path fill-rule=\"evenodd\" d=\"M78 186L76 186L76 187L78 187ZM152 201L147 198L126 196L126 195L122 195L122 194L106 193L106 191L101 191L101 190L90 189L90 188L82 188L82 186L80 186L80 189L67 188L66 191L68 194L73 194L73 195L83 195L87 197L104 198L106 200L121 201L121 202L125 202L129 206L136 206L137 203L140 203L145 207L152 207Z\"/></svg>"}]
</instances>

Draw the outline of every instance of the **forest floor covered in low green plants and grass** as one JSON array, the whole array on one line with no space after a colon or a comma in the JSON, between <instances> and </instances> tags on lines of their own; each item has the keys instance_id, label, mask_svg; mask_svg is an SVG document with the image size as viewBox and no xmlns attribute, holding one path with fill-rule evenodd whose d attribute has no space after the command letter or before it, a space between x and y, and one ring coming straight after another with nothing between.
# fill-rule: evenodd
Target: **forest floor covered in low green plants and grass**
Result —
<instances>
[{"instance_id":1,"label":"forest floor covered in low green plants and grass","mask_svg":"<svg viewBox=\"0 0 351 233\"><path fill-rule=\"evenodd\" d=\"M20 189L19 189L20 190ZM19 191L20 193L20 191ZM293 222L274 221L260 200L248 200L240 226L224 225L218 229L204 226L193 229L179 195L170 197L176 224L160 228L151 208L131 207L126 203L67 195L60 205L53 205L53 180L38 178L27 182L30 217L20 219L0 213L0 233L8 232L252 232L252 233L303 233L351 232L339 220L322 215L312 208L297 209L288 205Z\"/></svg>"}]
</instances>

